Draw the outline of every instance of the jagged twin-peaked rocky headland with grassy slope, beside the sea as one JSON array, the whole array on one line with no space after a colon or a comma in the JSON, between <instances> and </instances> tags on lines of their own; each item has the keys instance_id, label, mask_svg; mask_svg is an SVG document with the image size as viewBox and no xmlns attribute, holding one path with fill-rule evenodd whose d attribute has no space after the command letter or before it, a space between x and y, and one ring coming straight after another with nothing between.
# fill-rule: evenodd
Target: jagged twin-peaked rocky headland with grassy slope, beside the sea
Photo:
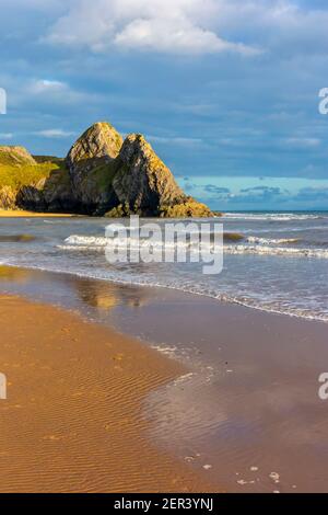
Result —
<instances>
[{"instance_id":1,"label":"jagged twin-peaked rocky headland with grassy slope, beside the sea","mask_svg":"<svg viewBox=\"0 0 328 515\"><path fill-rule=\"evenodd\" d=\"M1 161L2 156L2 161ZM4 158L5 157L5 158ZM1 163L31 180L8 184ZM2 164L3 168L3 164ZM27 172L26 172L27 173ZM66 160L33 158L19 147L0 147L0 207L87 215L208 217L210 209L188 197L142 135L126 140L107 123L96 123L72 146ZM3 190L4 188L4 190ZM8 190L10 188L10 190Z\"/></svg>"}]
</instances>

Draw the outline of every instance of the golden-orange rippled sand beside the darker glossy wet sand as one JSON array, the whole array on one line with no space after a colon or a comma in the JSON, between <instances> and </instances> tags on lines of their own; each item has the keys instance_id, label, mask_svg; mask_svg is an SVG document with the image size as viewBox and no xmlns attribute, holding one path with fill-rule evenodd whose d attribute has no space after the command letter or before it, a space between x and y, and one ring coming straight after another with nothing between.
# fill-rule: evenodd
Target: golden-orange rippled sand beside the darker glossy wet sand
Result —
<instances>
[{"instance_id":1,"label":"golden-orange rippled sand beside the darker glossy wet sand","mask_svg":"<svg viewBox=\"0 0 328 515\"><path fill-rule=\"evenodd\" d=\"M1 492L206 492L147 433L147 394L184 367L107 328L0 297Z\"/></svg>"}]
</instances>

